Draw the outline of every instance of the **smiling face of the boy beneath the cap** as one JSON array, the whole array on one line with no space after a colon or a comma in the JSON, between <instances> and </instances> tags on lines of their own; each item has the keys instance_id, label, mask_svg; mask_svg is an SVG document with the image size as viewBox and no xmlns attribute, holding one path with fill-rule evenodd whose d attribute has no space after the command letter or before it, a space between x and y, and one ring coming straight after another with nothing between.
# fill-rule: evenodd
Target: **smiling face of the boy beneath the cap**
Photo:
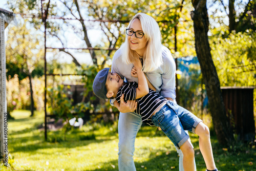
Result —
<instances>
[{"instance_id":1,"label":"smiling face of the boy beneath the cap","mask_svg":"<svg viewBox=\"0 0 256 171\"><path fill-rule=\"evenodd\" d=\"M117 73L108 73L106 77L106 84L108 91L112 91L115 94L118 92L119 88L123 86L123 79Z\"/></svg>"}]
</instances>

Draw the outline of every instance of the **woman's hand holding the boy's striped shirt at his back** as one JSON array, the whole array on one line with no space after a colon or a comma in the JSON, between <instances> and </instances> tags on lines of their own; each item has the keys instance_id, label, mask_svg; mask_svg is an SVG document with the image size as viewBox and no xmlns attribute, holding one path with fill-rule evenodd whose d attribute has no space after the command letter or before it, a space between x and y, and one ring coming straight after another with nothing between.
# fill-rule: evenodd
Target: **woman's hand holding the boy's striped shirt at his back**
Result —
<instances>
[{"instance_id":1,"label":"woman's hand holding the boy's striped shirt at his back","mask_svg":"<svg viewBox=\"0 0 256 171\"><path fill-rule=\"evenodd\" d=\"M127 102L124 102L123 100L124 95L120 97L120 104L115 101L114 105L121 113L127 113L127 112L134 112L137 109L137 101L136 100L129 100Z\"/></svg>"}]
</instances>

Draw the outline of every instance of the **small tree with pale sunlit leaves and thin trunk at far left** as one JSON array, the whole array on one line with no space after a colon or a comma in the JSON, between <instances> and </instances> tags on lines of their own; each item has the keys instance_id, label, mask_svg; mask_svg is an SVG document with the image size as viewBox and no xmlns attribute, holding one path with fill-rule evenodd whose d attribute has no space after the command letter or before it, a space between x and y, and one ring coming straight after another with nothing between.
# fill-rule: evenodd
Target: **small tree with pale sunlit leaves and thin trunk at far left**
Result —
<instances>
[{"instance_id":1,"label":"small tree with pale sunlit leaves and thin trunk at far left","mask_svg":"<svg viewBox=\"0 0 256 171\"><path fill-rule=\"evenodd\" d=\"M38 35L31 36L33 29L28 29L26 24L9 29L9 37L6 46L7 78L18 74L19 80L29 78L31 97L31 116L34 115L34 98L32 78L42 76L42 48L40 48Z\"/></svg>"}]
</instances>

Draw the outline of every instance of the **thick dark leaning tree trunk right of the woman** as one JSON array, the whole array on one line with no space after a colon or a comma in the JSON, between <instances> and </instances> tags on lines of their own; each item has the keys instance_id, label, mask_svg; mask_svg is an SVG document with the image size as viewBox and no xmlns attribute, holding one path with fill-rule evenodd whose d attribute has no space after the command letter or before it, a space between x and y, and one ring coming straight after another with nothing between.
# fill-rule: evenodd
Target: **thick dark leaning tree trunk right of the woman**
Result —
<instances>
[{"instance_id":1,"label":"thick dark leaning tree trunk right of the woman","mask_svg":"<svg viewBox=\"0 0 256 171\"><path fill-rule=\"evenodd\" d=\"M191 18L194 20L196 53L209 99L212 122L219 143L228 145L232 142L233 136L225 112L219 77L210 54L206 0L192 0L192 3L195 8L195 11L191 11Z\"/></svg>"}]
</instances>

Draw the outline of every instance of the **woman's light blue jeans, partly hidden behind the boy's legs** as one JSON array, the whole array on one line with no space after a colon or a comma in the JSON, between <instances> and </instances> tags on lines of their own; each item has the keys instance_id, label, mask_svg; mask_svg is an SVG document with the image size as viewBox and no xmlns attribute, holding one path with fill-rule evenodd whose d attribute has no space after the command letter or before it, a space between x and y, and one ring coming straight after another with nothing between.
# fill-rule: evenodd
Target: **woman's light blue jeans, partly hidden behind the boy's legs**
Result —
<instances>
[{"instance_id":1,"label":"woman's light blue jeans, partly hidden behind the boy's legs","mask_svg":"<svg viewBox=\"0 0 256 171\"><path fill-rule=\"evenodd\" d=\"M118 121L118 135L119 135L119 152L118 152L118 168L119 171L135 171L135 164L133 161L133 155L135 151L135 138L142 124L141 116L136 113L120 113ZM188 139L190 142L190 139ZM190 142L191 143L191 142ZM183 154L180 149L177 152L180 156L179 170L183 169ZM195 170L196 170L196 162ZM150 169L150 168L148 168Z\"/></svg>"}]
</instances>

